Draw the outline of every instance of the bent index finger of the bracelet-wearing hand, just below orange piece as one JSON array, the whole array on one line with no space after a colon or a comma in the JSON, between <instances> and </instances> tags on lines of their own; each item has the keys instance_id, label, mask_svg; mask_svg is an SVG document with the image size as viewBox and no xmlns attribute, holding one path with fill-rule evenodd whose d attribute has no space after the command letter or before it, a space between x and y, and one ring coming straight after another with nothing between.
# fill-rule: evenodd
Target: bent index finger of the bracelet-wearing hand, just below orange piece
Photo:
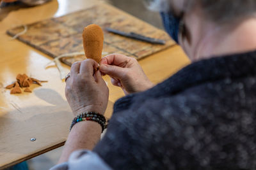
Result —
<instances>
[{"instance_id":1,"label":"bent index finger of the bracelet-wearing hand, just below orange piece","mask_svg":"<svg viewBox=\"0 0 256 170\"><path fill-rule=\"evenodd\" d=\"M98 64L93 59L86 59L81 62L80 72L83 76L93 76L94 70L97 69Z\"/></svg>"}]
</instances>

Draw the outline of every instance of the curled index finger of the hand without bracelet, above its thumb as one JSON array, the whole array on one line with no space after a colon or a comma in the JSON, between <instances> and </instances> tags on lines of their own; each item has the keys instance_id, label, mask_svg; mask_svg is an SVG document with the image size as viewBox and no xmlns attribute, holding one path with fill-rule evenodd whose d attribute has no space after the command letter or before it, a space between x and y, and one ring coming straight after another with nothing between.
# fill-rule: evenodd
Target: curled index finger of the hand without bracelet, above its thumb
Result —
<instances>
[{"instance_id":1,"label":"curled index finger of the hand without bracelet, above its thumb","mask_svg":"<svg viewBox=\"0 0 256 170\"><path fill-rule=\"evenodd\" d=\"M108 65L120 66L120 64L122 65L125 62L127 63L130 59L131 57L127 57L125 55L118 54L118 53L113 53L102 58L100 60L100 65L108 64Z\"/></svg>"}]
</instances>

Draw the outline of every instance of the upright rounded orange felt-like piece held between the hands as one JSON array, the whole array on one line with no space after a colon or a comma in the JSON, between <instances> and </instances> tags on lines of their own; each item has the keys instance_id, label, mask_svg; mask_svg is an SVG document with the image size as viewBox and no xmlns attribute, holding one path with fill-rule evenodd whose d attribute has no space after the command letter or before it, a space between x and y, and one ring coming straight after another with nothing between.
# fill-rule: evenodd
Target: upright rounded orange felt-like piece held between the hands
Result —
<instances>
[{"instance_id":1,"label":"upright rounded orange felt-like piece held between the hands","mask_svg":"<svg viewBox=\"0 0 256 170\"><path fill-rule=\"evenodd\" d=\"M84 27L84 53L88 59L100 62L103 49L104 33L99 25L92 24Z\"/></svg>"}]
</instances>

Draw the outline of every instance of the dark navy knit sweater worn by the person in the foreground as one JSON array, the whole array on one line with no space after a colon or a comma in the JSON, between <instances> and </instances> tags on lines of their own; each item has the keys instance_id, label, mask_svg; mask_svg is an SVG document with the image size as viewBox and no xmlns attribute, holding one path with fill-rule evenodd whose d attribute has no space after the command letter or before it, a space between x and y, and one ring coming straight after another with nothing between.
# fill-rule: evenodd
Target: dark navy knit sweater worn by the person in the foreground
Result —
<instances>
[{"instance_id":1,"label":"dark navy knit sweater worn by the person in the foreground","mask_svg":"<svg viewBox=\"0 0 256 170\"><path fill-rule=\"evenodd\" d=\"M256 52L195 62L119 99L94 151L113 169L256 169Z\"/></svg>"}]
</instances>

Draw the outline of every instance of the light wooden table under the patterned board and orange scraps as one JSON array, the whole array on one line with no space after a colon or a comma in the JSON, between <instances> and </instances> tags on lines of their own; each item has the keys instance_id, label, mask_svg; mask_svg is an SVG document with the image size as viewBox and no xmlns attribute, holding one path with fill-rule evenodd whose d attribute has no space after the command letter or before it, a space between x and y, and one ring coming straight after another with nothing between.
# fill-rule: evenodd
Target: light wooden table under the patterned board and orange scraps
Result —
<instances>
[{"instance_id":1,"label":"light wooden table under the patterned board and orange scraps","mask_svg":"<svg viewBox=\"0 0 256 170\"><path fill-rule=\"evenodd\" d=\"M40 155L65 143L72 113L65 99L65 82L56 67L44 69L51 57L5 34L7 29L72 11L90 8L97 0L53 0L33 8L21 8L8 13L0 21L0 169ZM163 81L189 64L179 46L173 46L140 60L145 73L154 83ZM65 66L69 71L70 67ZM11 95L4 87L19 73L39 80L48 80L42 87L33 86L33 93ZM108 117L113 103L124 96L122 90L104 80L109 87ZM36 141L31 141L36 138Z\"/></svg>"}]
</instances>

